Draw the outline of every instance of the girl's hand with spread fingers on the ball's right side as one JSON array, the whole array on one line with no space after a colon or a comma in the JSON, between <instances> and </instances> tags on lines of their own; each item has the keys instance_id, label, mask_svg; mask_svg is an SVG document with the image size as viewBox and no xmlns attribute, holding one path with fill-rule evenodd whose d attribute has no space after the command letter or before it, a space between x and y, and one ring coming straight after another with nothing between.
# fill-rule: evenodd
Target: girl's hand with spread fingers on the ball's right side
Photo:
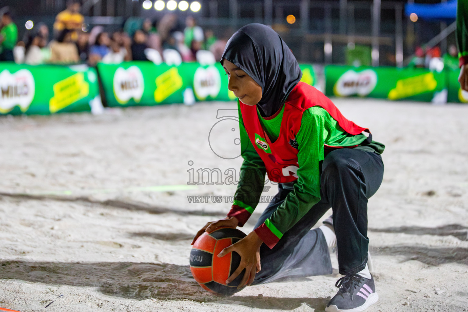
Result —
<instances>
[{"instance_id":1,"label":"girl's hand with spread fingers on the ball's right side","mask_svg":"<svg viewBox=\"0 0 468 312\"><path fill-rule=\"evenodd\" d=\"M242 270L245 268L244 278L242 278L241 283L237 286L237 289L249 285L254 281L255 274L258 273L261 269L260 266L260 246L263 241L258 237L256 232L252 231L239 240L237 243L232 244L229 247L224 248L219 254L218 257L223 257L230 252L235 251L241 256L241 263L239 267L234 271L234 273L229 276L226 280L226 284L231 283L234 279L241 274Z\"/></svg>"}]
</instances>

